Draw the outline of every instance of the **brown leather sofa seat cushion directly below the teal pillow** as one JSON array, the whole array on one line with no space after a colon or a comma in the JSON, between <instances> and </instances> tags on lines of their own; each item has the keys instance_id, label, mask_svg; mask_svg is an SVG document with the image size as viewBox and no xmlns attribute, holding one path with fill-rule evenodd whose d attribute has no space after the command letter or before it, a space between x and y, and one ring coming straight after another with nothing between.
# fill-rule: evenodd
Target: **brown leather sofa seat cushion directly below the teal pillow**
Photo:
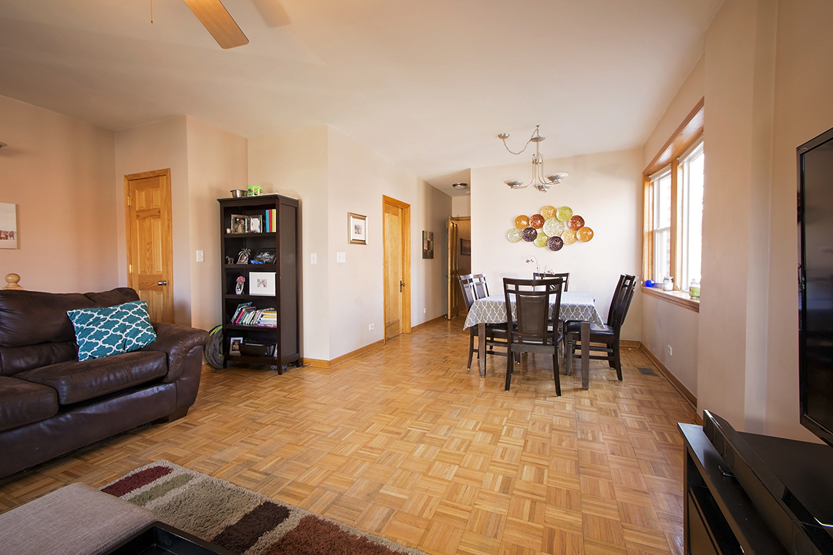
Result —
<instances>
[{"instance_id":1,"label":"brown leather sofa seat cushion directly below the teal pillow","mask_svg":"<svg viewBox=\"0 0 833 555\"><path fill-rule=\"evenodd\" d=\"M57 391L60 404L72 404L145 384L167 374L167 357L153 351L134 351L104 359L71 361L15 374Z\"/></svg>"}]
</instances>

